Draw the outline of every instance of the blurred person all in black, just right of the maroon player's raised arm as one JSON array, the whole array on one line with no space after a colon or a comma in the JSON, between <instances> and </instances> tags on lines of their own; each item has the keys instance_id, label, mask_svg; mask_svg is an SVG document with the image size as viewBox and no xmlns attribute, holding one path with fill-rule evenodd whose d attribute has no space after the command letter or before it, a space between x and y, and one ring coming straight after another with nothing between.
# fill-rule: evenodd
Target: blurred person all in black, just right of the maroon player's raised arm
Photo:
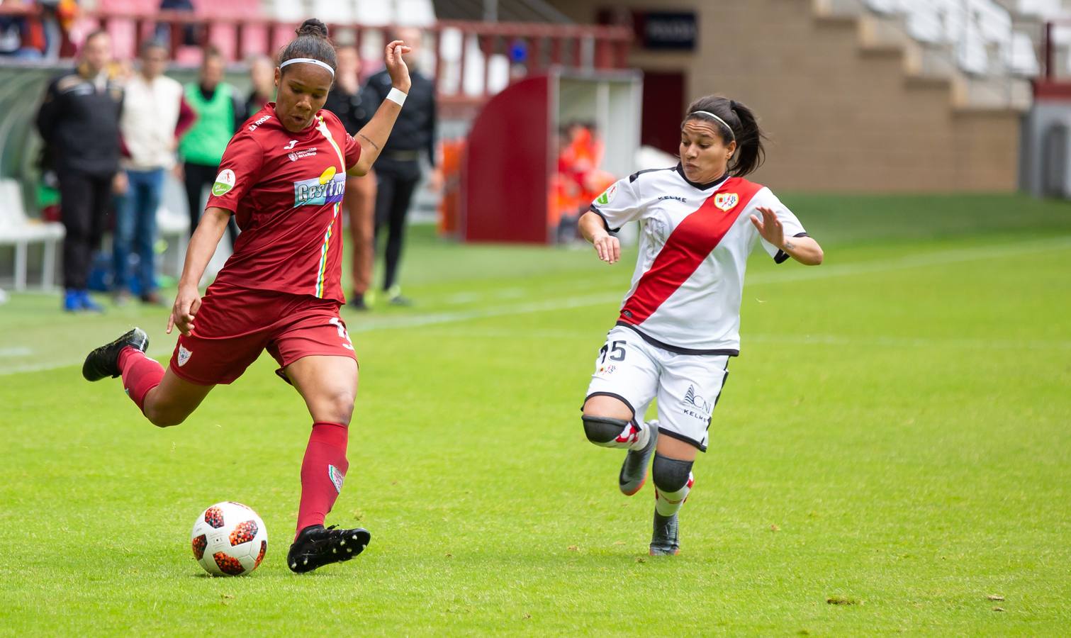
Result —
<instances>
[{"instance_id":1,"label":"blurred person all in black, just right of the maroon player's raised arm","mask_svg":"<svg viewBox=\"0 0 1071 638\"><path fill-rule=\"evenodd\" d=\"M402 297L398 285L398 264L402 261L402 246L405 242L405 219L412 201L412 193L420 182L420 154L427 151L432 165L431 185L438 188L440 176L435 162L435 85L420 72L417 55L420 51L422 33L419 29L403 28L394 34L395 40L404 40L411 47L403 58L409 66L412 87L406 97L405 108L398 115L397 123L391 132L382 154L376 162L376 238L380 229L388 228L384 253L383 291L390 303L409 305ZM387 97L391 90L391 78L387 70L368 78L367 89L375 95L375 105Z\"/></svg>"}]
</instances>

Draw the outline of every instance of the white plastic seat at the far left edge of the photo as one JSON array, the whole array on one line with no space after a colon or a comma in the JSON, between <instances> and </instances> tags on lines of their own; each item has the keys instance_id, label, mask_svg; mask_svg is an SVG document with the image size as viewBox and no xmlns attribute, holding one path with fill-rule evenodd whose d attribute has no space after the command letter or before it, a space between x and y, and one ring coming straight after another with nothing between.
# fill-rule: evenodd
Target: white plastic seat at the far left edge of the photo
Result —
<instances>
[{"instance_id":1,"label":"white plastic seat at the far left edge of the photo","mask_svg":"<svg viewBox=\"0 0 1071 638\"><path fill-rule=\"evenodd\" d=\"M41 288L56 283L56 244L63 239L61 224L30 221L17 180L0 180L0 246L15 248L15 290L26 290L29 246L42 244Z\"/></svg>"}]
</instances>

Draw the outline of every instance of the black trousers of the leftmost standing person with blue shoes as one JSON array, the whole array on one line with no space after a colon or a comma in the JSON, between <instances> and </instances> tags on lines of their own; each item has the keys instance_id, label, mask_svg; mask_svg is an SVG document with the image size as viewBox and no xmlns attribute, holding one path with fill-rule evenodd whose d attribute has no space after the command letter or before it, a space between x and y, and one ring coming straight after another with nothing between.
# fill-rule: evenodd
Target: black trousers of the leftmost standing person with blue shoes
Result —
<instances>
[{"instance_id":1,"label":"black trousers of the leftmost standing person with blue shoes","mask_svg":"<svg viewBox=\"0 0 1071 638\"><path fill-rule=\"evenodd\" d=\"M93 253L100 247L104 223L111 208L115 173L89 174L60 170L60 217L63 237L63 287L85 290Z\"/></svg>"}]
</instances>

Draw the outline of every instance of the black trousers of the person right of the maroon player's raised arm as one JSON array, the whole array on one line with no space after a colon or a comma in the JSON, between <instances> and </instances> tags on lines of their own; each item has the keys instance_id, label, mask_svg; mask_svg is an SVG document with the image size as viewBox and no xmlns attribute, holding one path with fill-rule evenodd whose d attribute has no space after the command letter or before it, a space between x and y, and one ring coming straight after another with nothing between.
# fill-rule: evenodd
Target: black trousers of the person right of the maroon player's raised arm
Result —
<instances>
[{"instance_id":1,"label":"black trousers of the person right of the maroon player's raised arm","mask_svg":"<svg viewBox=\"0 0 1071 638\"><path fill-rule=\"evenodd\" d=\"M402 247L405 244L405 218L419 182L419 162L397 162L387 157L379 157L376 162L376 245L379 245L380 229L387 226L383 290L397 283Z\"/></svg>"}]
</instances>

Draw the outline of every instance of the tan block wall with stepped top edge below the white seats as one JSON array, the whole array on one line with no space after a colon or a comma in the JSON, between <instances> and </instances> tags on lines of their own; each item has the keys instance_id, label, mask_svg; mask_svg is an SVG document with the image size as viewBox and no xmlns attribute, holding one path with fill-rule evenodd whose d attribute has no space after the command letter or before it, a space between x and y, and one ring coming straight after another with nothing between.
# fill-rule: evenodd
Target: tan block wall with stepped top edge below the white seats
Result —
<instances>
[{"instance_id":1,"label":"tan block wall with stepped top edge below the white seats","mask_svg":"<svg viewBox=\"0 0 1071 638\"><path fill-rule=\"evenodd\" d=\"M605 0L552 0L578 21ZM863 47L856 20L812 0L617 0L696 12L694 54L635 47L638 69L681 70L690 98L751 106L770 136L757 181L780 189L1013 191L1021 115L953 106L948 82L910 77L904 51Z\"/></svg>"}]
</instances>

